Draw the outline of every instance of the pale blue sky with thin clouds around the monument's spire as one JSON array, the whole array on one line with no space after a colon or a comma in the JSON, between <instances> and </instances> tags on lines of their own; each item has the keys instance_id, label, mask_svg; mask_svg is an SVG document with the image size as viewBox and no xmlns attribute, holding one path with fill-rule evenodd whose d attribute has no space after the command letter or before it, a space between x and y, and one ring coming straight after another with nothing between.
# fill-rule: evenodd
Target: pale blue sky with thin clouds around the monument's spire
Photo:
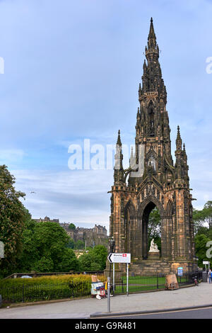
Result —
<instances>
[{"instance_id":1,"label":"pale blue sky with thin clouds around the monument's spire","mask_svg":"<svg viewBox=\"0 0 212 333\"><path fill-rule=\"evenodd\" d=\"M113 171L71 171L68 147L134 143L151 16L173 158L179 125L194 207L212 200L211 0L1 0L0 163L33 218L109 227Z\"/></svg>"}]
</instances>

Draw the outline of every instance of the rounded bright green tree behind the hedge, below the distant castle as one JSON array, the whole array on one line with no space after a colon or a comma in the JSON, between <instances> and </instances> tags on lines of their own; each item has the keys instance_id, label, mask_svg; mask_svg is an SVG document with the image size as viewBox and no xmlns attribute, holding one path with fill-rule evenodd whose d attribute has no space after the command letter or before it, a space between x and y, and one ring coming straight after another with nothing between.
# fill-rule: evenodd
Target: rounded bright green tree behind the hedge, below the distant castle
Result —
<instances>
[{"instance_id":1,"label":"rounded bright green tree behind the hedge, below the distant castle","mask_svg":"<svg viewBox=\"0 0 212 333\"><path fill-rule=\"evenodd\" d=\"M76 255L67 247L69 241L57 222L28 222L19 271L78 271Z\"/></svg>"}]
</instances>

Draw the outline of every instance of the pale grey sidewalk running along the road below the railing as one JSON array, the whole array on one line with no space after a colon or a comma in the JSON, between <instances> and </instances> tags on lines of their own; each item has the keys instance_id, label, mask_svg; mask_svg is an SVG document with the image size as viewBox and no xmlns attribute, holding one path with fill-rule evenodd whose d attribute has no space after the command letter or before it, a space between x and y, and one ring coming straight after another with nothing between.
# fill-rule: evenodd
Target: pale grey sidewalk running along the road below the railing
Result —
<instances>
[{"instance_id":1,"label":"pale grey sidewalk running along the road below the railing","mask_svg":"<svg viewBox=\"0 0 212 333\"><path fill-rule=\"evenodd\" d=\"M118 312L142 312L178 307L212 305L212 284L200 283L198 287L162 290L151 293L117 295L111 298L111 315ZM97 300L68 300L66 302L23 307L1 308L0 318L42 319L42 318L89 318L107 313L107 298Z\"/></svg>"}]
</instances>

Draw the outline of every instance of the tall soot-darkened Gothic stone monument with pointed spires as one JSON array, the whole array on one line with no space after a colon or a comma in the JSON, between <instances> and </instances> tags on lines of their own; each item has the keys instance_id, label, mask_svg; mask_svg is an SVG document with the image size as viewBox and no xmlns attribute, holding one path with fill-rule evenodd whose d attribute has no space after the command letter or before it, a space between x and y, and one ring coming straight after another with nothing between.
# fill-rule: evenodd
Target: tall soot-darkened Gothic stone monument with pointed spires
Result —
<instances>
[{"instance_id":1,"label":"tall soot-darkened Gothic stone monument with pointed spires","mask_svg":"<svg viewBox=\"0 0 212 333\"><path fill-rule=\"evenodd\" d=\"M119 131L115 154L115 166L119 164L119 168L114 168L111 190L110 236L114 237L115 251L130 252L134 263L145 259L161 260L167 263L167 267L175 269L180 262L184 271L192 270L194 226L187 153L185 146L182 147L178 127L173 163L166 110L167 93L158 61L159 47L152 20L145 52L136 115L136 149L131 152L131 161L136 160L138 164L139 147L142 147L144 169L142 175L136 174L131 166L123 169ZM148 219L155 207L161 219L160 252L154 243L148 249Z\"/></svg>"}]
</instances>

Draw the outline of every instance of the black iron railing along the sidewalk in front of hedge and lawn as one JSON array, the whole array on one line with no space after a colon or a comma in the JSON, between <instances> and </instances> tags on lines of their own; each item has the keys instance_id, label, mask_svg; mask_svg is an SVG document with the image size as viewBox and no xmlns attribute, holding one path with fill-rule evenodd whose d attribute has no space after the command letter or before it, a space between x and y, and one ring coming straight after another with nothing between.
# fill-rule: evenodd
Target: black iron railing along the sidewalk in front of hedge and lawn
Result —
<instances>
[{"instance_id":1,"label":"black iron railing along the sidewalk in front of hedge and lawn","mask_svg":"<svg viewBox=\"0 0 212 333\"><path fill-rule=\"evenodd\" d=\"M202 271L177 276L179 286L194 283L194 276L198 281L202 279ZM105 278L106 280L106 278ZM14 281L15 282L15 281ZM129 276L129 293L164 290L165 275ZM35 302L38 300L57 300L62 298L90 297L90 281L70 281L57 283L14 283L11 286L0 285L0 295L5 303ZM113 289L113 286L112 286ZM114 294L126 293L126 276L115 280Z\"/></svg>"}]
</instances>

